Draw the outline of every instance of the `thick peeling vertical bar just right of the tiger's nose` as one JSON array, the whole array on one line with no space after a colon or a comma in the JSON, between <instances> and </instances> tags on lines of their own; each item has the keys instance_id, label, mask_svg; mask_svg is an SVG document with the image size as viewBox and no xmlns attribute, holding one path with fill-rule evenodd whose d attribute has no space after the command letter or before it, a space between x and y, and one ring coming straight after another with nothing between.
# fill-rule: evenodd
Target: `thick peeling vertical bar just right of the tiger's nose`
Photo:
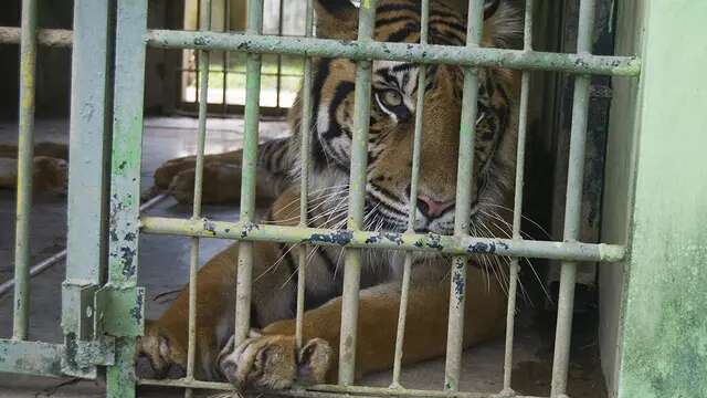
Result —
<instances>
[{"instance_id":1,"label":"thick peeling vertical bar just right of the tiger's nose","mask_svg":"<svg viewBox=\"0 0 707 398\"><path fill-rule=\"evenodd\" d=\"M468 2L468 27L466 46L478 46L484 23L484 1ZM478 96L478 74L473 67L464 69L464 98L462 101L462 122L460 128L460 160L457 176L474 174L474 142L476 136L476 101ZM472 178L458 178L456 181L456 209L454 213L454 234L467 235L472 210ZM464 348L464 307L466 302L466 264L468 259L455 256L452 260L452 286L450 289L450 323L447 329L446 363L444 388L458 390Z\"/></svg>"}]
</instances>

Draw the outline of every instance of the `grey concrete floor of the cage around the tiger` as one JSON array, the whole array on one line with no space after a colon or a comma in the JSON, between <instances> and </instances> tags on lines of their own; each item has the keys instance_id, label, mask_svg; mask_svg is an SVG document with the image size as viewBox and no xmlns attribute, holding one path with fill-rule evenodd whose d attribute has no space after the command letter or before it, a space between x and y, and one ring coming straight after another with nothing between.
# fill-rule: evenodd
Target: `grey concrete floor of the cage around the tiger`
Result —
<instances>
[{"instance_id":1,"label":"grey concrete floor of the cage around the tiger","mask_svg":"<svg viewBox=\"0 0 707 398\"><path fill-rule=\"evenodd\" d=\"M143 188L152 185L155 169L165 160L196 151L191 118L148 118L146 121L143 161ZM264 139L283 135L283 123L262 124ZM65 121L39 121L38 140L66 142L68 125ZM243 122L238 119L210 119L208 153L236 148L242 142ZM236 133L234 133L236 132ZM0 143L13 142L17 127L0 124ZM65 247L65 198L35 198L32 212L32 261L39 262ZM0 283L11 277L13 269L13 213L14 193L0 190ZM191 208L167 199L151 209L149 214L189 217ZM236 220L238 208L204 207L204 214L221 220ZM201 263L229 242L202 240ZM139 283L147 287L147 316L158 316L173 295L160 297L165 292L180 289L188 280L189 243L186 238L144 235L140 240ZM169 277L165 277L168 274ZM61 281L64 264L60 263L32 280L30 338L59 343ZM11 295L0 297L0 338L11 335ZM552 322L538 310L523 305L518 317L514 356L514 388L524 395L549 395L551 374ZM573 398L605 397L604 383L599 370L595 314L577 318L574 325L573 355L570 366L570 396ZM462 390L497 392L503 386L504 343L502 339L464 354ZM444 360L432 360L403 370L402 384L408 388L441 388ZM0 374L0 397L102 397L101 381L81 381L64 385L66 380ZM388 386L390 373L367 377L362 385ZM140 389L145 397L181 396L177 389Z\"/></svg>"}]
</instances>

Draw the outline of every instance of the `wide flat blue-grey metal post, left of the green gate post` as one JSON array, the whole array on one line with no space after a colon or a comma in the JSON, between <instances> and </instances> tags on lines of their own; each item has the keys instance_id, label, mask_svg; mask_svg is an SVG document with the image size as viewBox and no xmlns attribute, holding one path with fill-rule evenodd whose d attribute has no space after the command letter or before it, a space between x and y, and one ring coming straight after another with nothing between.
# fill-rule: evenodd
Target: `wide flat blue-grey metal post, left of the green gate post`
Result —
<instances>
[{"instance_id":1,"label":"wide flat blue-grey metal post, left of the green gate post","mask_svg":"<svg viewBox=\"0 0 707 398\"><path fill-rule=\"evenodd\" d=\"M72 53L66 235L71 250L66 254L65 286L99 285L104 277L110 137L108 69L113 61L109 15L106 2L74 3L74 29L78 34ZM63 316L62 321L64 334L78 332L80 320Z\"/></svg>"}]
</instances>

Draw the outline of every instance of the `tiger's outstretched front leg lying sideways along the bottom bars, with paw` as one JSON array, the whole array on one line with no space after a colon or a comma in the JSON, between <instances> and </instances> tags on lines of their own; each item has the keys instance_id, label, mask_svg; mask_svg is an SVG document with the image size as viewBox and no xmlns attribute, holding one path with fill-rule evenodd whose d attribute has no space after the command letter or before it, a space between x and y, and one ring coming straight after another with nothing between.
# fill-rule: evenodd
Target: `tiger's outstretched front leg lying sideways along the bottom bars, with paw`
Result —
<instances>
[{"instance_id":1,"label":"tiger's outstretched front leg lying sideways along the bottom bars, with paw","mask_svg":"<svg viewBox=\"0 0 707 398\"><path fill-rule=\"evenodd\" d=\"M503 333L506 295L486 283L487 275L468 270L464 345ZM424 282L422 282L424 283ZM450 297L449 280L413 286L409 295L403 364L441 357L445 353ZM356 377L390 369L393 364L400 289L397 283L360 292ZM295 346L295 321L275 322L261 336L239 346L226 345L219 356L221 373L238 387L288 388L335 383L338 368L341 297L304 314L305 347Z\"/></svg>"}]
</instances>

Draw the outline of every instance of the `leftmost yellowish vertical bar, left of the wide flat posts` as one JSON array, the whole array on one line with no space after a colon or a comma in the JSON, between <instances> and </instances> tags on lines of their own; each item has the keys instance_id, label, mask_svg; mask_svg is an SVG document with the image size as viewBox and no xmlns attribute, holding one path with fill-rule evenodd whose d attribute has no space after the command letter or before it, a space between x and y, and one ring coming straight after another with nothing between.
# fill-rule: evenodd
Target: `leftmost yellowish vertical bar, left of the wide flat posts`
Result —
<instances>
[{"instance_id":1,"label":"leftmost yellowish vertical bar, left of the wide flat posts","mask_svg":"<svg viewBox=\"0 0 707 398\"><path fill-rule=\"evenodd\" d=\"M22 1L20 39L20 130L14 243L14 317L12 338L25 339L30 305L30 214L34 157L34 94L36 74L36 0Z\"/></svg>"}]
</instances>

